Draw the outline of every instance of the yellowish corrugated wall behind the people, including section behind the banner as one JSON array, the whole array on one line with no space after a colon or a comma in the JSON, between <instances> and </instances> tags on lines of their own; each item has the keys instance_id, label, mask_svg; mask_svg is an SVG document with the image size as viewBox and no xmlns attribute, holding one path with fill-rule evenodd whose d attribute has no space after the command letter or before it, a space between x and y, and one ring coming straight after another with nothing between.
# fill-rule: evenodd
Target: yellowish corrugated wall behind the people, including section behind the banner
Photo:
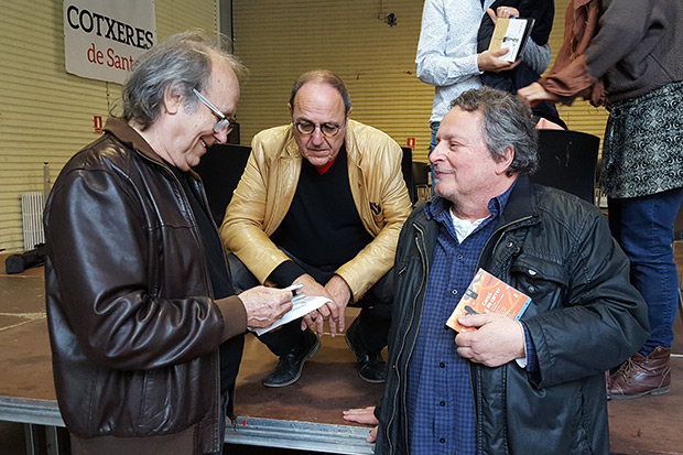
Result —
<instances>
[{"instance_id":1,"label":"yellowish corrugated wall behind the people, including section behind the banner","mask_svg":"<svg viewBox=\"0 0 683 455\"><path fill-rule=\"evenodd\" d=\"M155 0L156 31L217 30L228 0ZM568 0L556 0L551 45L559 50ZM397 26L378 19L393 12ZM232 0L235 50L251 69L238 106L241 142L289 122L293 80L328 68L347 83L353 117L391 134L416 139L425 161L433 88L415 77L422 1ZM120 86L66 74L62 2L0 0L0 250L23 248L20 196L43 191L43 163L54 182L80 147L94 140L93 117L107 117ZM224 8L224 9L226 9ZM572 129L601 136L606 113L586 102L562 107Z\"/></svg>"}]
</instances>

